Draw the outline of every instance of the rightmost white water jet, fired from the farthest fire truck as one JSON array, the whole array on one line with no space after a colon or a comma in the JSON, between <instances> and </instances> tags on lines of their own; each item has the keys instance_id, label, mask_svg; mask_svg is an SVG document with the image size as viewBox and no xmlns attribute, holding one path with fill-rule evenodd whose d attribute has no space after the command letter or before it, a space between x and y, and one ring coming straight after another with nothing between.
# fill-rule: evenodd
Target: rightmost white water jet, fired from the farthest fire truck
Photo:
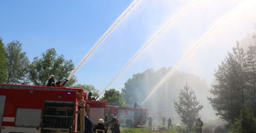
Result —
<instances>
[{"instance_id":1,"label":"rightmost white water jet, fired from the farthest fire truck","mask_svg":"<svg viewBox=\"0 0 256 133\"><path fill-rule=\"evenodd\" d=\"M241 5L241 4L240 4ZM160 83L151 91L151 93L147 96L147 98L142 102L145 103L148 98L150 98L150 96L159 88L159 86L163 83L163 81L165 81L165 79L173 72L173 70L202 42L202 40L204 38L206 38L213 30L216 29L216 27L222 23L222 21L224 21L229 15L231 12L233 12L234 10L236 10L238 8L238 6L236 8L234 8L233 10L231 10L230 12L228 12L226 15L224 15L222 17L222 19L213 27L211 28L209 31L207 31L200 39L199 41L194 45L194 47L192 47L188 53L167 73L167 75L165 77L163 77L163 79L160 81ZM141 104L141 105L142 105Z\"/></svg>"}]
</instances>

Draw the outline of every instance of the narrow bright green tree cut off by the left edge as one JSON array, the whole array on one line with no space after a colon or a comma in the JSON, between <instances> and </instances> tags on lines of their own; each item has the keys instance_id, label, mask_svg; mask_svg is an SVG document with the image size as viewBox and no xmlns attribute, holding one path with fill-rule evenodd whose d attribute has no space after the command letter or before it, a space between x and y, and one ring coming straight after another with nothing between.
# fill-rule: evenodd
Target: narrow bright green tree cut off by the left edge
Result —
<instances>
[{"instance_id":1,"label":"narrow bright green tree cut off by the left edge","mask_svg":"<svg viewBox=\"0 0 256 133\"><path fill-rule=\"evenodd\" d=\"M5 58L5 49L3 40L0 37L0 83L5 83L7 74L6 74L6 58Z\"/></svg>"}]
</instances>

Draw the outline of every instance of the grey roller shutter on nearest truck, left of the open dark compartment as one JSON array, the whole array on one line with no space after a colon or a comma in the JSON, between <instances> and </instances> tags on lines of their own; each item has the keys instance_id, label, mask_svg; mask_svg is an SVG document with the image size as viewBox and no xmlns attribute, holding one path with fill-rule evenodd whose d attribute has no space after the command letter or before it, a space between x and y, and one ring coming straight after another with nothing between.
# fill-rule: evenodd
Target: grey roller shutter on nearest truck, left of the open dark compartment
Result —
<instances>
[{"instance_id":1,"label":"grey roller shutter on nearest truck, left of the open dark compartment","mask_svg":"<svg viewBox=\"0 0 256 133\"><path fill-rule=\"evenodd\" d=\"M17 108L15 126L40 127L41 109Z\"/></svg>"}]
</instances>

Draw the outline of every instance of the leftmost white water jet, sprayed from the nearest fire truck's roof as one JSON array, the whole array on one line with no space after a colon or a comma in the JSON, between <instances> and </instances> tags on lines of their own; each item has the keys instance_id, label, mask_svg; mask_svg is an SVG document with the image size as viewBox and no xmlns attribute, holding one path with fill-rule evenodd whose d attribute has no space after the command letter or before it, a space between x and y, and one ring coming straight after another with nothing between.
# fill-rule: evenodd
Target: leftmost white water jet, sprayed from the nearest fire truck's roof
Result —
<instances>
[{"instance_id":1,"label":"leftmost white water jet, sprayed from the nearest fire truck's roof","mask_svg":"<svg viewBox=\"0 0 256 133\"><path fill-rule=\"evenodd\" d=\"M93 51L97 48L97 46L104 40L104 38L115 28L115 26L125 17L125 15L136 5L140 0L134 1L125 12L120 15L120 17L116 20L116 22L110 27L110 29L101 37L101 39L94 45L94 47L89 51L89 53L83 58L83 60L77 65L75 70L68 76L68 80L74 75L74 73L81 67L84 61L93 53Z\"/></svg>"}]
</instances>

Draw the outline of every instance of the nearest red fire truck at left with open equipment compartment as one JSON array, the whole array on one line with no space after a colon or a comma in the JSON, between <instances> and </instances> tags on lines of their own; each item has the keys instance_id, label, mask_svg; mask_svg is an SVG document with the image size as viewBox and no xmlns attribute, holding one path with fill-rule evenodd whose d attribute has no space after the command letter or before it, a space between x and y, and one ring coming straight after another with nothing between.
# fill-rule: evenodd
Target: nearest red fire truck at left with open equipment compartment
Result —
<instances>
[{"instance_id":1,"label":"nearest red fire truck at left with open equipment compartment","mask_svg":"<svg viewBox=\"0 0 256 133\"><path fill-rule=\"evenodd\" d=\"M86 96L81 88L0 84L0 132L82 133Z\"/></svg>"}]
</instances>

